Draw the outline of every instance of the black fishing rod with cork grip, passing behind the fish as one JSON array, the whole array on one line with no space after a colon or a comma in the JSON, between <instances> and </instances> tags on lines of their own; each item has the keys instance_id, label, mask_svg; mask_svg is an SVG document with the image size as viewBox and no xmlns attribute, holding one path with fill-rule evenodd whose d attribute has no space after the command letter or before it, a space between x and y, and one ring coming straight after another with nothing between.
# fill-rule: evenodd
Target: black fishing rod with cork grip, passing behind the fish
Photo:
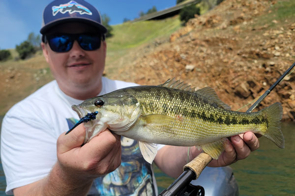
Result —
<instances>
[{"instance_id":1,"label":"black fishing rod with cork grip, passing behind the fish","mask_svg":"<svg viewBox=\"0 0 295 196\"><path fill-rule=\"evenodd\" d=\"M295 63L273 83L266 92L246 111L252 112L261 101L283 80L283 78L294 68ZM212 158L205 152L201 152L195 159L183 167L183 173L158 196L204 196L205 190L201 186L190 184L192 180L198 179Z\"/></svg>"}]
</instances>

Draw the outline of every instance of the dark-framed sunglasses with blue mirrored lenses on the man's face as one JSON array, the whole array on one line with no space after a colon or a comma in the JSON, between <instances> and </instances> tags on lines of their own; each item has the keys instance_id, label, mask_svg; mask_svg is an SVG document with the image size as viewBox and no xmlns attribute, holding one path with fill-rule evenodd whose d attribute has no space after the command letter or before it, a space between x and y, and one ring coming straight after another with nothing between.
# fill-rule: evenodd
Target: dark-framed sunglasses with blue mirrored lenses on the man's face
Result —
<instances>
[{"instance_id":1,"label":"dark-framed sunglasses with blue mirrored lenses on the man's face","mask_svg":"<svg viewBox=\"0 0 295 196\"><path fill-rule=\"evenodd\" d=\"M101 40L104 37L101 34L52 34L45 35L44 40L48 41L50 48L55 52L68 52L72 49L74 41L77 40L79 46L88 51L100 48Z\"/></svg>"}]
</instances>

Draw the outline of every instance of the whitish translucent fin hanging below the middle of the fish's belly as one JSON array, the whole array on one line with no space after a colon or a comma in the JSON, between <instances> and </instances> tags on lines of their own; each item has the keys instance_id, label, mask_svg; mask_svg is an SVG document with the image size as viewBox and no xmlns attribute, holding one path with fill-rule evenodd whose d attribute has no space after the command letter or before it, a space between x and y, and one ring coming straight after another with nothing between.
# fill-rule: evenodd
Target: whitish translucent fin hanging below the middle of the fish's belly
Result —
<instances>
[{"instance_id":1,"label":"whitish translucent fin hanging below the middle of the fish's belly","mask_svg":"<svg viewBox=\"0 0 295 196\"><path fill-rule=\"evenodd\" d=\"M151 164L158 152L157 146L153 143L142 142L142 141L139 141L138 143L139 143L139 149L144 159Z\"/></svg>"}]
</instances>

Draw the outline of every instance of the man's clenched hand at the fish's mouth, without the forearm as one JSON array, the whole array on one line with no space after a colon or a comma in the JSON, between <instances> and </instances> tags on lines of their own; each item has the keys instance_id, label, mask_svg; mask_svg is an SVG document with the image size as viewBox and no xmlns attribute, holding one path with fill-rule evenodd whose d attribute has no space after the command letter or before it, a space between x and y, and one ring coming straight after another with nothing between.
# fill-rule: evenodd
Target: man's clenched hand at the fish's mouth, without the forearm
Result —
<instances>
[{"instance_id":1,"label":"man's clenched hand at the fish's mouth, without the forearm","mask_svg":"<svg viewBox=\"0 0 295 196\"><path fill-rule=\"evenodd\" d=\"M61 169L80 179L95 178L116 170L121 163L120 136L106 130L82 146L85 133L81 124L71 133L59 136L57 156Z\"/></svg>"}]
</instances>

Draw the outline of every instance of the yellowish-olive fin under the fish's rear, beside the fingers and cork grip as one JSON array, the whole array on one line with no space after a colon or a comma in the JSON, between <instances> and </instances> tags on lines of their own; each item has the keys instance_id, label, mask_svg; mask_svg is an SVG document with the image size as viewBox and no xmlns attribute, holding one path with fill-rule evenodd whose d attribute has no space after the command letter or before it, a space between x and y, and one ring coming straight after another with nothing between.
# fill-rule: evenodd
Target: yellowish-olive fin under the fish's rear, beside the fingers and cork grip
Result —
<instances>
[{"instance_id":1,"label":"yellowish-olive fin under the fish's rear, beside the fingers and cork grip","mask_svg":"<svg viewBox=\"0 0 295 196\"><path fill-rule=\"evenodd\" d=\"M213 159L218 159L219 155L224 151L224 142L226 139L222 139L217 142L201 145L204 152L206 152Z\"/></svg>"}]
</instances>

